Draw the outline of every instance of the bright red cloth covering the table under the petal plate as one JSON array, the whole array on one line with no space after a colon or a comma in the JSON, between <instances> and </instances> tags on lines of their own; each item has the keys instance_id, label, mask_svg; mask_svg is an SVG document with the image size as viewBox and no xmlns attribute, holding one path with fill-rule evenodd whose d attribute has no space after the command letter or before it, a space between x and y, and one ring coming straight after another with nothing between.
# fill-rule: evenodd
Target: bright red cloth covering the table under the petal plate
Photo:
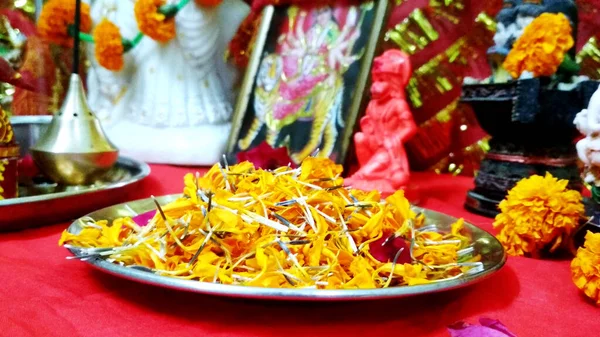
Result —
<instances>
[{"instance_id":1,"label":"bright red cloth covering the table under the petal plate","mask_svg":"<svg viewBox=\"0 0 600 337\"><path fill-rule=\"evenodd\" d=\"M153 166L139 198L180 193L194 169ZM490 219L462 208L472 179L414 174L421 206L488 231ZM35 212L35 210L32 210ZM410 299L278 303L164 290L68 261L67 224L0 234L0 336L449 336L446 326L485 316L520 337L594 336L600 309L571 282L570 259L509 258L475 286Z\"/></svg>"}]
</instances>

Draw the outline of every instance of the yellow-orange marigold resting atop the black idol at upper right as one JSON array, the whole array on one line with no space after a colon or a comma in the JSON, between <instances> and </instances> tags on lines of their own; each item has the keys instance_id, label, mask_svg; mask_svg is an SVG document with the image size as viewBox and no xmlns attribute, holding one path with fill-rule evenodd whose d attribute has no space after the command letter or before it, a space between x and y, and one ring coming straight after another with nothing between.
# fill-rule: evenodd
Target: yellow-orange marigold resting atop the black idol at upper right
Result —
<instances>
[{"instance_id":1,"label":"yellow-orange marigold resting atop the black idol at upper right","mask_svg":"<svg viewBox=\"0 0 600 337\"><path fill-rule=\"evenodd\" d=\"M504 61L504 69L513 78L525 71L534 76L551 76L575 43L571 24L562 13L544 13L523 31Z\"/></svg>"}]
</instances>

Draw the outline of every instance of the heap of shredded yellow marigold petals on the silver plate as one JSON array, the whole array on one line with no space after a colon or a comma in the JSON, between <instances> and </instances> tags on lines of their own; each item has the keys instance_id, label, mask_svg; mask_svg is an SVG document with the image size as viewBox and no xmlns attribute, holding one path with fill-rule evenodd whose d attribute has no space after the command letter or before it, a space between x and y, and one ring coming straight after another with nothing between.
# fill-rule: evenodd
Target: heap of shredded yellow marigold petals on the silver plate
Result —
<instances>
[{"instance_id":1,"label":"heap of shredded yellow marigold petals on the silver plate","mask_svg":"<svg viewBox=\"0 0 600 337\"><path fill-rule=\"evenodd\" d=\"M59 244L159 275L271 288L383 288L482 270L462 220L438 232L402 191L381 200L343 187L341 173L317 158L273 171L215 165L186 175L184 196L151 220L84 219Z\"/></svg>"}]
</instances>

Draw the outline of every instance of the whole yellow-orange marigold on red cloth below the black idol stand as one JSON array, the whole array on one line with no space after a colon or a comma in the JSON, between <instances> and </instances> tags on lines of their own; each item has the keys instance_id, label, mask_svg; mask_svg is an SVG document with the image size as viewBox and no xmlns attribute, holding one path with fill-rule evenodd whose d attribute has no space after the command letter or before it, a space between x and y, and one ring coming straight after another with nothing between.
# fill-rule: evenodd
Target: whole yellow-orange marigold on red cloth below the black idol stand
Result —
<instances>
[{"instance_id":1,"label":"whole yellow-orange marigold on red cloth below the black idol stand","mask_svg":"<svg viewBox=\"0 0 600 337\"><path fill-rule=\"evenodd\" d=\"M521 180L500 203L494 222L498 239L513 256L555 251L578 226L584 207L581 194L567 180L547 173Z\"/></svg>"}]
</instances>

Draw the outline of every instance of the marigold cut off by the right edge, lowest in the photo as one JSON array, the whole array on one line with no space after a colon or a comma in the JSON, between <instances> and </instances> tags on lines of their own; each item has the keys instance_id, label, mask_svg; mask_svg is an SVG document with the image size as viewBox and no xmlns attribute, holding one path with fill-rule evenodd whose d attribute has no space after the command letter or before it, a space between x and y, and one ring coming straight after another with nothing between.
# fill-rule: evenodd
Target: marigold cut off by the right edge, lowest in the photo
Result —
<instances>
[{"instance_id":1,"label":"marigold cut off by the right edge, lowest in the photo","mask_svg":"<svg viewBox=\"0 0 600 337\"><path fill-rule=\"evenodd\" d=\"M600 305L600 233L586 234L584 246L571 262L571 272L577 288Z\"/></svg>"}]
</instances>

